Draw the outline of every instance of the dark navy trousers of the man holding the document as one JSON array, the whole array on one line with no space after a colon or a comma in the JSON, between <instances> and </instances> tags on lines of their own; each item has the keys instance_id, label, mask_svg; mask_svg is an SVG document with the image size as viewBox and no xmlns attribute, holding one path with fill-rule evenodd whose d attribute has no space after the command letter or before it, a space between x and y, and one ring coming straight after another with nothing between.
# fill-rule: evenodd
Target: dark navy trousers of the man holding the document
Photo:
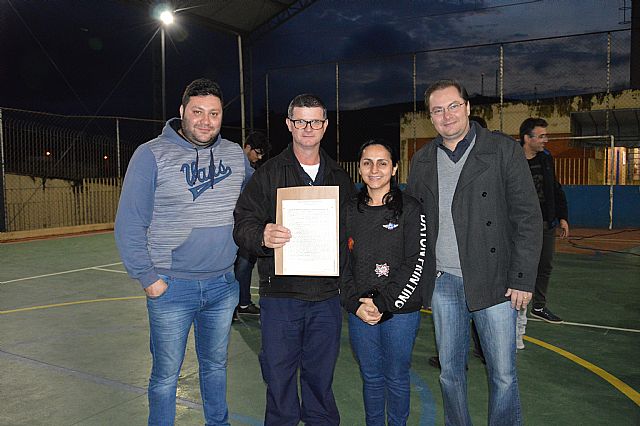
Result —
<instances>
[{"instance_id":1,"label":"dark navy trousers of the man holding the document","mask_svg":"<svg viewBox=\"0 0 640 426\"><path fill-rule=\"evenodd\" d=\"M340 297L309 302L260 298L265 426L339 425L333 372L340 350ZM301 399L298 398L298 373Z\"/></svg>"}]
</instances>

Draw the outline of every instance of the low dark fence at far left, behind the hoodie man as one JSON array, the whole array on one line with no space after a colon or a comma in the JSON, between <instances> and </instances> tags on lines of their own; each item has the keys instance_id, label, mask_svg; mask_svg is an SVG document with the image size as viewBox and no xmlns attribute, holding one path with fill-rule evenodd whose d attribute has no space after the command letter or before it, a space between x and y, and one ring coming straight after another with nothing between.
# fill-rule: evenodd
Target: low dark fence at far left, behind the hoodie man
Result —
<instances>
[{"instance_id":1,"label":"low dark fence at far left, behind the hoodie man","mask_svg":"<svg viewBox=\"0 0 640 426\"><path fill-rule=\"evenodd\" d=\"M122 178L135 149L164 123L0 108L0 231L114 221ZM225 127L239 136L240 129Z\"/></svg>"}]
</instances>

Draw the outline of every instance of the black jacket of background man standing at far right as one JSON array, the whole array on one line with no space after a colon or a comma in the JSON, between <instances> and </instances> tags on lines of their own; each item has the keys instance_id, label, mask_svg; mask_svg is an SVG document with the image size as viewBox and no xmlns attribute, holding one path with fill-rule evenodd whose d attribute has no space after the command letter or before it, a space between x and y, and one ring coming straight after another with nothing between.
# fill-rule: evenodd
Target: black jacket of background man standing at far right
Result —
<instances>
[{"instance_id":1,"label":"black jacket of background man standing at far right","mask_svg":"<svg viewBox=\"0 0 640 426\"><path fill-rule=\"evenodd\" d=\"M555 228L559 219L569 220L569 209L567 207L567 197L564 195L562 186L556 180L556 173L553 167L553 157L546 149L536 154L537 160L542 164L542 179L544 204L542 208L542 220L548 223L549 228Z\"/></svg>"}]
</instances>

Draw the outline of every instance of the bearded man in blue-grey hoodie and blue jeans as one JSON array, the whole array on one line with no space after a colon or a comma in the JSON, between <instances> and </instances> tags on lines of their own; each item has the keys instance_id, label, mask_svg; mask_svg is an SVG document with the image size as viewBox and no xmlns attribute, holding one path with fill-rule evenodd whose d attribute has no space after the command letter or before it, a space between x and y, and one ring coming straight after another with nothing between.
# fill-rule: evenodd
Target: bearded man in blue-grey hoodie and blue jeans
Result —
<instances>
[{"instance_id":1,"label":"bearded man in blue-grey hoodie and blue jeans","mask_svg":"<svg viewBox=\"0 0 640 426\"><path fill-rule=\"evenodd\" d=\"M207 79L187 86L180 118L133 154L115 223L120 257L147 296L149 424L173 424L191 326L206 424L228 425L227 347L238 284L233 209L253 169L220 137L223 96Z\"/></svg>"}]
</instances>

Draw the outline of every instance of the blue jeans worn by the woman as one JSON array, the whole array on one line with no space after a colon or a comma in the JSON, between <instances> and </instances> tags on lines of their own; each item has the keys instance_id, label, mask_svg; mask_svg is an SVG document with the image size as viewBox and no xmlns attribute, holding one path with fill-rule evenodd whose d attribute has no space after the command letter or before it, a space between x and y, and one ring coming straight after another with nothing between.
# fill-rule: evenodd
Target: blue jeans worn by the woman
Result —
<instances>
[{"instance_id":1,"label":"blue jeans worn by the woman","mask_svg":"<svg viewBox=\"0 0 640 426\"><path fill-rule=\"evenodd\" d=\"M411 352L419 326L419 311L394 314L374 326L349 314L349 338L360 364L367 426L407 423Z\"/></svg>"}]
</instances>

